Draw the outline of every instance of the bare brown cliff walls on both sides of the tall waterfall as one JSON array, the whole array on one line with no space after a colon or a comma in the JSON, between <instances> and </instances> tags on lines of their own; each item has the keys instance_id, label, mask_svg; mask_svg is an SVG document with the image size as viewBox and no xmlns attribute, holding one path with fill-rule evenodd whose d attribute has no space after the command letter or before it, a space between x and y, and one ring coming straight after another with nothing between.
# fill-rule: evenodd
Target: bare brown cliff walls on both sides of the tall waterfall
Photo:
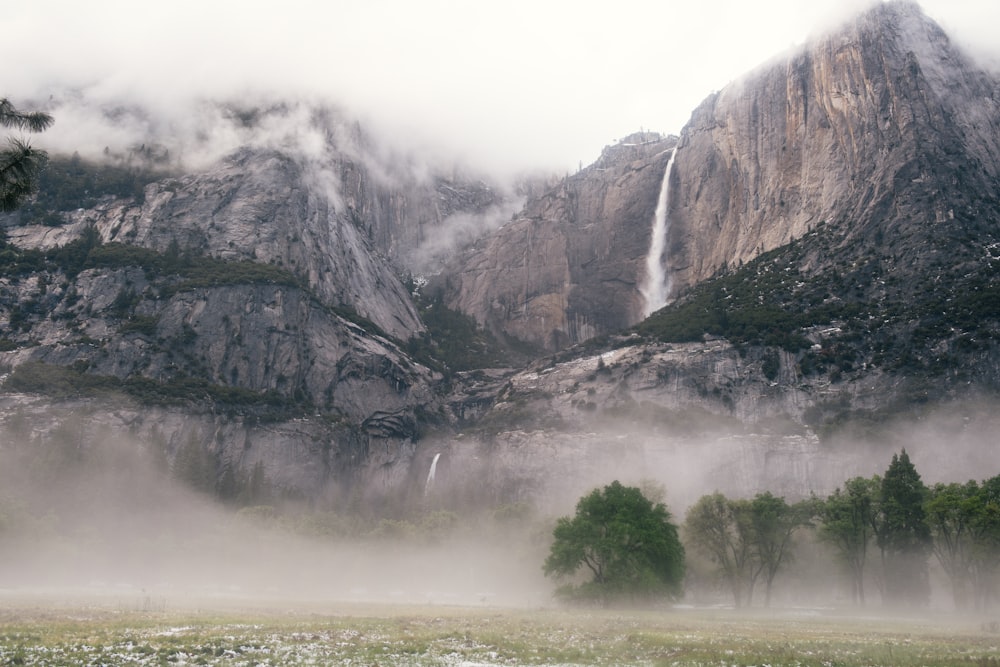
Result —
<instances>
[{"instance_id":1,"label":"bare brown cliff walls on both sides of the tall waterfall","mask_svg":"<svg viewBox=\"0 0 1000 667\"><path fill-rule=\"evenodd\" d=\"M529 201L451 268L448 302L549 350L634 324L672 145L612 149ZM891 239L899 270L927 268L953 258L935 239L985 230L1000 84L915 4L881 3L707 98L677 145L673 296L827 223L841 246ZM810 268L833 260L853 261L820 253Z\"/></svg>"}]
</instances>

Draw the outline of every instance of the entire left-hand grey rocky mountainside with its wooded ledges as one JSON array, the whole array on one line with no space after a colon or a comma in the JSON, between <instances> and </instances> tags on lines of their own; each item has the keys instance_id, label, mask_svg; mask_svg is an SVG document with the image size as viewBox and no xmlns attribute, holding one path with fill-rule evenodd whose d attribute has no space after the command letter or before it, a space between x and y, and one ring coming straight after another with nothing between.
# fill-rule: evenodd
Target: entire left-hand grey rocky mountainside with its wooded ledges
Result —
<instances>
[{"instance_id":1,"label":"entire left-hand grey rocky mountainside with its wooded ledges","mask_svg":"<svg viewBox=\"0 0 1000 667\"><path fill-rule=\"evenodd\" d=\"M101 425L159 428L171 460L194 439L216 473L259 463L289 493L398 491L443 410L440 374L402 349L424 331L406 262L433 262L415 253L456 216L490 224L505 204L328 130L318 156L251 145L45 224L8 216L2 418L44 434L79 404L45 417L32 395L88 399L88 447Z\"/></svg>"}]
</instances>

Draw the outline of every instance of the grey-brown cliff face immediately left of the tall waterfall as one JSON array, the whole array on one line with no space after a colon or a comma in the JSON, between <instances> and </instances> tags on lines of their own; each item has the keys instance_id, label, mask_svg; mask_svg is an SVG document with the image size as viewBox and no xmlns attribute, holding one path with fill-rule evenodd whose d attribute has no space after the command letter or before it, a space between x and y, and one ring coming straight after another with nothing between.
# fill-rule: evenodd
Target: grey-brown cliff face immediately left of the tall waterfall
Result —
<instances>
[{"instance_id":1,"label":"grey-brown cliff face immediately left of the tall waterfall","mask_svg":"<svg viewBox=\"0 0 1000 667\"><path fill-rule=\"evenodd\" d=\"M505 336L556 350L641 318L638 282L674 145L633 135L529 199L514 220L442 272L452 308Z\"/></svg>"}]
</instances>

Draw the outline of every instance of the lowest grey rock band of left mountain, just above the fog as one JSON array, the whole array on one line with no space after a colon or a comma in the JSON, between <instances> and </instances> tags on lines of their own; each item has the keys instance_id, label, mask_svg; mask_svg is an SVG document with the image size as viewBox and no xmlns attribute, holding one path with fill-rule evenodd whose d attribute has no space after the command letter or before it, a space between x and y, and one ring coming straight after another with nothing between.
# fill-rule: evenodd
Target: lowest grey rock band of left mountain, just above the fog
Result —
<instances>
[{"instance_id":1,"label":"lowest grey rock band of left mountain, just above the fog","mask_svg":"<svg viewBox=\"0 0 1000 667\"><path fill-rule=\"evenodd\" d=\"M333 507L349 499L384 502L401 496L415 450L409 438L363 435L343 423L260 423L138 405L124 397L53 402L8 393L0 398L0 433L0 455L7 457L33 448L32 456L52 460L68 449L73 460L82 462L117 442L141 453L149 465L165 467L165 474L181 449L194 443L215 470L232 469L246 478L259 465L263 481L279 497Z\"/></svg>"}]
</instances>

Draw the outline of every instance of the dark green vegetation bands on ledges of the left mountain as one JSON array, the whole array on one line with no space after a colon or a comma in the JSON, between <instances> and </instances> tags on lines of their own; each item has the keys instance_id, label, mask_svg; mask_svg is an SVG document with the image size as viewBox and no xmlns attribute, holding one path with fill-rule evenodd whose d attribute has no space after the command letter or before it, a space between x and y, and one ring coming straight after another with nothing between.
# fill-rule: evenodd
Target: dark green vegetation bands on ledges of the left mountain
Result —
<instances>
[{"instance_id":1,"label":"dark green vegetation bands on ledges of the left mountain","mask_svg":"<svg viewBox=\"0 0 1000 667\"><path fill-rule=\"evenodd\" d=\"M27 363L14 370L4 387L56 398L124 393L147 405L192 405L207 400L215 409L252 415L264 421L299 416L311 409L308 397L297 392L284 395L220 384L187 350L195 336L194 331L186 328L177 337L157 338L158 317L138 312L139 304L146 298L164 299L187 290L234 285L282 285L301 289L315 300L295 274L273 264L196 256L181 253L176 247L160 253L138 246L101 244L93 228L81 238L48 251L20 249L0 241L0 278L17 282L36 276L39 286L37 295L28 301L0 302L0 306L6 307L10 313L0 337L0 349L36 345L31 338L32 328L47 318L66 320L70 333L79 330L81 321L78 318L90 317L91 313L89 305L83 311L74 310L79 296L72 280L87 269L124 268L141 268L153 289L137 294L126 284L103 316L119 322L119 335L135 334L148 338L151 350L166 351L177 359L180 365L171 377L154 380L138 373L125 378L98 375L88 370L89 364L85 360L73 366ZM59 285L60 289L48 289L50 285ZM374 324L350 309L329 310L361 326L377 330ZM76 342L97 346L104 344L82 333Z\"/></svg>"}]
</instances>

